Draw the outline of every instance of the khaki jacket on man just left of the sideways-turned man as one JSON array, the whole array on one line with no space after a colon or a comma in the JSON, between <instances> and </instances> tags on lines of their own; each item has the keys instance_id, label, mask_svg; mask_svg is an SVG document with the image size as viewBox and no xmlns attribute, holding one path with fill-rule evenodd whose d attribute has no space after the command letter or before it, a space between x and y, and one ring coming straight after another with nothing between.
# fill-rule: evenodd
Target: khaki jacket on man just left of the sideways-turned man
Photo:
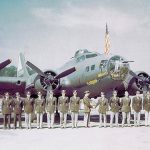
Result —
<instances>
[{"instance_id":1,"label":"khaki jacket on man just left of the sideways-turned man","mask_svg":"<svg viewBox=\"0 0 150 150\"><path fill-rule=\"evenodd\" d=\"M80 108L80 97L72 96L70 98L70 111L79 112L79 108Z\"/></svg>"}]
</instances>

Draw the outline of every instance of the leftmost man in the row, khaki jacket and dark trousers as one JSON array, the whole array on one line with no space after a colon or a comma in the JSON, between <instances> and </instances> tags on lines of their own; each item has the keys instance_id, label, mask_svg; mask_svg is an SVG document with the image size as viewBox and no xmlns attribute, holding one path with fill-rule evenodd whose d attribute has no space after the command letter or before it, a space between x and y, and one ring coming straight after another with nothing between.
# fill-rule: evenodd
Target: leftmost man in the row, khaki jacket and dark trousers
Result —
<instances>
[{"instance_id":1,"label":"leftmost man in the row, khaki jacket and dark trousers","mask_svg":"<svg viewBox=\"0 0 150 150\"><path fill-rule=\"evenodd\" d=\"M9 97L9 93L6 92L5 96L2 100L2 114L3 114L3 121L4 121L4 129L7 128L10 129L10 123L11 123L11 112L12 112L12 100Z\"/></svg>"}]
</instances>

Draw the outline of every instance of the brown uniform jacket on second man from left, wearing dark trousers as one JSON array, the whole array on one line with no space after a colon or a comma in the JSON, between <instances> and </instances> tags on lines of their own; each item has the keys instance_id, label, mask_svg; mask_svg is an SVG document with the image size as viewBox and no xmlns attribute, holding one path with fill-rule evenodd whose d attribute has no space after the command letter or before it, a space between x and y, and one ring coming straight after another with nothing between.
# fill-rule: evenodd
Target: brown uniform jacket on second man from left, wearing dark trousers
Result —
<instances>
[{"instance_id":1,"label":"brown uniform jacket on second man from left, wearing dark trousers","mask_svg":"<svg viewBox=\"0 0 150 150\"><path fill-rule=\"evenodd\" d=\"M23 101L21 100L21 98L19 98L19 100L16 98L13 101L13 107L14 107L14 113L15 114L21 114L22 113L22 107L23 107Z\"/></svg>"}]
</instances>

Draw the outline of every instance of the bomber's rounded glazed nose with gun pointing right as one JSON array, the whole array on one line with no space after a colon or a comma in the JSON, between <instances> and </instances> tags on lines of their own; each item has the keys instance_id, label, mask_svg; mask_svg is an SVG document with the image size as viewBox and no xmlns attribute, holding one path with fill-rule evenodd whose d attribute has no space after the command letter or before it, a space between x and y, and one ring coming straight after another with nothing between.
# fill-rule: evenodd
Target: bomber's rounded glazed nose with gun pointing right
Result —
<instances>
[{"instance_id":1,"label":"bomber's rounded glazed nose with gun pointing right","mask_svg":"<svg viewBox=\"0 0 150 150\"><path fill-rule=\"evenodd\" d=\"M125 63L124 58L113 56L109 59L108 71L113 80L125 80L129 72L129 63Z\"/></svg>"}]
</instances>

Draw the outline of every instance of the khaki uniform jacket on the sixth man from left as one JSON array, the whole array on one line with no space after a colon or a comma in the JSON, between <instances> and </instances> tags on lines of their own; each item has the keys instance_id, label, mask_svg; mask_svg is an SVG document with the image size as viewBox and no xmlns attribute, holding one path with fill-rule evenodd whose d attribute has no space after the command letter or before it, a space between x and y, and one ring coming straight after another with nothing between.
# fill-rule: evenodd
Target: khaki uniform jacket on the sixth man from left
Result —
<instances>
[{"instance_id":1,"label":"khaki uniform jacket on the sixth man from left","mask_svg":"<svg viewBox=\"0 0 150 150\"><path fill-rule=\"evenodd\" d=\"M69 109L69 100L68 97L60 96L58 98L58 109L61 113L67 113Z\"/></svg>"}]
</instances>

